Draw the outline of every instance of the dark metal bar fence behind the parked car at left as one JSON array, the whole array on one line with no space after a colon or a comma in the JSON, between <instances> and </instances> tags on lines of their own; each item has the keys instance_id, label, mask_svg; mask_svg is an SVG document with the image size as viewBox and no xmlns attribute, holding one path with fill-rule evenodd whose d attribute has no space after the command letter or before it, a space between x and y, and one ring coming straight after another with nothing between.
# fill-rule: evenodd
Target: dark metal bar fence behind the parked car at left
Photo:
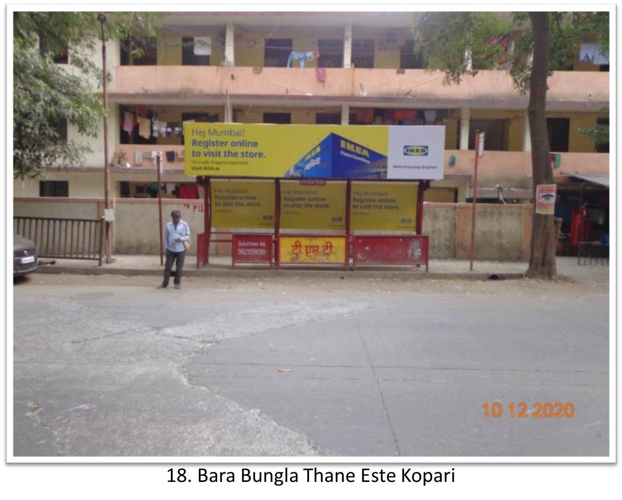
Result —
<instances>
[{"instance_id":1,"label":"dark metal bar fence behind the parked car at left","mask_svg":"<svg viewBox=\"0 0 622 500\"><path fill-rule=\"evenodd\" d=\"M104 253L104 219L13 217L13 232L32 240L37 255L47 258L98 260Z\"/></svg>"}]
</instances>

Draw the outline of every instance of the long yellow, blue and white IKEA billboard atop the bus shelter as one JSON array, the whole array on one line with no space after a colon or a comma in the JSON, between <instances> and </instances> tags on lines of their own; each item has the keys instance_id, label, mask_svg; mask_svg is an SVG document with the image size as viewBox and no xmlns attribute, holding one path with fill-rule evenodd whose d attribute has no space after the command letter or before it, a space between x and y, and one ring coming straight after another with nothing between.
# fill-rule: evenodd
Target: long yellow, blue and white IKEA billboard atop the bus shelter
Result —
<instances>
[{"instance_id":1,"label":"long yellow, blue and white IKEA billboard atop the bus shelter","mask_svg":"<svg viewBox=\"0 0 622 500\"><path fill-rule=\"evenodd\" d=\"M291 179L443 178L439 125L187 122L186 175Z\"/></svg>"}]
</instances>

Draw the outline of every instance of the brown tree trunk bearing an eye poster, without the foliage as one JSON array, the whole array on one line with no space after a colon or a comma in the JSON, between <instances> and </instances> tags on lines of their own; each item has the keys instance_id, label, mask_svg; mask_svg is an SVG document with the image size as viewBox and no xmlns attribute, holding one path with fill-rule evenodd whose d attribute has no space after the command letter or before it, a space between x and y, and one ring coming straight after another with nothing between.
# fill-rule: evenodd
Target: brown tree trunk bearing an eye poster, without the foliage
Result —
<instances>
[{"instance_id":1,"label":"brown tree trunk bearing an eye poster, without the foliage","mask_svg":"<svg viewBox=\"0 0 622 500\"><path fill-rule=\"evenodd\" d=\"M529 77L529 128L531 133L531 164L533 172L534 224L531 233L531 254L527 278L555 280L554 215L536 214L538 184L555 184L550 166L549 135L546 128L546 90L549 70L548 12L529 12L534 32L534 55Z\"/></svg>"}]
</instances>

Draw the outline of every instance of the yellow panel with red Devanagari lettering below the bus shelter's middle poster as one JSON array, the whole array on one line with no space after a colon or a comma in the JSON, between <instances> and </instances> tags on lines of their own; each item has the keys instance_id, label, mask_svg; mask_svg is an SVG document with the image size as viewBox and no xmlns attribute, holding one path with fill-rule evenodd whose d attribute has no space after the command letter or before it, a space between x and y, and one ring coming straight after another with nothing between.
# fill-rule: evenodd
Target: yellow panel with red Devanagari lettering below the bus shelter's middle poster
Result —
<instances>
[{"instance_id":1,"label":"yellow panel with red Devanagari lettering below the bus shelter's middle poster","mask_svg":"<svg viewBox=\"0 0 622 500\"><path fill-rule=\"evenodd\" d=\"M345 236L279 236L282 264L345 264Z\"/></svg>"}]
</instances>

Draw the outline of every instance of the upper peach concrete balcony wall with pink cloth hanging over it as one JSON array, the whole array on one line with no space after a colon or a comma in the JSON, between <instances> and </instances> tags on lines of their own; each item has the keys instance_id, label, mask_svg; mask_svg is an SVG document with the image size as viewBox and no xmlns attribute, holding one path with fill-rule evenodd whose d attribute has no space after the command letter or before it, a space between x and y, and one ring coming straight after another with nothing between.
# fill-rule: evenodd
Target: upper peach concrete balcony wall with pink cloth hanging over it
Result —
<instances>
[{"instance_id":1,"label":"upper peach concrete balcony wall with pink cloth hanging over it","mask_svg":"<svg viewBox=\"0 0 622 500\"><path fill-rule=\"evenodd\" d=\"M116 66L110 98L149 104L223 104L270 101L335 102L355 106L526 109L506 71L480 71L460 85L443 86L443 73L424 70L226 66ZM549 78L549 111L602 111L609 104L609 73L561 71Z\"/></svg>"}]
</instances>

